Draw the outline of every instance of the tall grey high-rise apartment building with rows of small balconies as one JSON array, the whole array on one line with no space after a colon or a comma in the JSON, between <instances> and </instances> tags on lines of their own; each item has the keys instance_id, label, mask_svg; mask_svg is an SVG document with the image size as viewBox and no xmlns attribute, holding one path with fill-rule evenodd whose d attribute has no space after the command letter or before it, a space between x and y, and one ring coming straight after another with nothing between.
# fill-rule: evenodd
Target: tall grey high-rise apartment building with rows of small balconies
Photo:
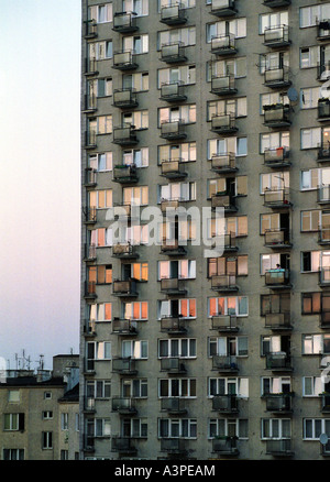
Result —
<instances>
[{"instance_id":1,"label":"tall grey high-rise apartment building with rows of small balconies","mask_svg":"<svg viewBox=\"0 0 330 482\"><path fill-rule=\"evenodd\" d=\"M82 458L330 456L328 19L82 0Z\"/></svg>"}]
</instances>

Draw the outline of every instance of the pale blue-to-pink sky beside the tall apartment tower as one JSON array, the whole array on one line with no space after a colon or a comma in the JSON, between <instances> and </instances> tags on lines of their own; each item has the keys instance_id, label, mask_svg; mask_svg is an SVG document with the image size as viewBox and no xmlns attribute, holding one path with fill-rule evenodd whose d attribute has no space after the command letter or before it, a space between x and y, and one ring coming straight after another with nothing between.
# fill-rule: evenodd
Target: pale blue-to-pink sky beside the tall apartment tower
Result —
<instances>
[{"instance_id":1,"label":"pale blue-to-pink sky beside the tall apartment tower","mask_svg":"<svg viewBox=\"0 0 330 482\"><path fill-rule=\"evenodd\" d=\"M79 350L80 0L0 15L0 358L52 369Z\"/></svg>"}]
</instances>

